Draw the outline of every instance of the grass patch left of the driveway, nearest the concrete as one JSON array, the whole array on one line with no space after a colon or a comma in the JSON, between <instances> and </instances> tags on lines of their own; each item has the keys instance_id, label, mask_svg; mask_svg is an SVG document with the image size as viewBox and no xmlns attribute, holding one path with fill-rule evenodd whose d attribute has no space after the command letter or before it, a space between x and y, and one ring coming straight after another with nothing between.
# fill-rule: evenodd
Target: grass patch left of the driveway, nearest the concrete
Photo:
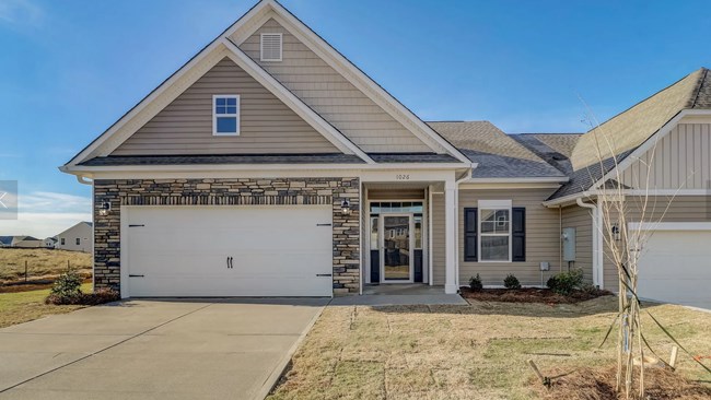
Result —
<instances>
[{"instance_id":1,"label":"grass patch left of the driveway, nearest the concrete","mask_svg":"<svg viewBox=\"0 0 711 400\"><path fill-rule=\"evenodd\" d=\"M91 292L91 283L82 285L83 292ZM45 304L45 297L49 294L49 289L0 293L0 328L9 327L15 323L22 323L37 319L51 314L63 314L73 311L84 306L55 306Z\"/></svg>"}]
</instances>

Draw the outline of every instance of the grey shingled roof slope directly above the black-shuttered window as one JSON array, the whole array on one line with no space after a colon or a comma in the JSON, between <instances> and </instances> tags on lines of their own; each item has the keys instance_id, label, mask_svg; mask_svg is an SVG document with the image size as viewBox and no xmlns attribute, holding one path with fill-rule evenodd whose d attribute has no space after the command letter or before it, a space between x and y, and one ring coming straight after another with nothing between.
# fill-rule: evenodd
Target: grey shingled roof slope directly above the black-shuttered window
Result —
<instances>
[{"instance_id":1,"label":"grey shingled roof slope directly above the black-shuttered window","mask_svg":"<svg viewBox=\"0 0 711 400\"><path fill-rule=\"evenodd\" d=\"M471 178L536 178L566 176L489 121L428 122L471 162Z\"/></svg>"}]
</instances>

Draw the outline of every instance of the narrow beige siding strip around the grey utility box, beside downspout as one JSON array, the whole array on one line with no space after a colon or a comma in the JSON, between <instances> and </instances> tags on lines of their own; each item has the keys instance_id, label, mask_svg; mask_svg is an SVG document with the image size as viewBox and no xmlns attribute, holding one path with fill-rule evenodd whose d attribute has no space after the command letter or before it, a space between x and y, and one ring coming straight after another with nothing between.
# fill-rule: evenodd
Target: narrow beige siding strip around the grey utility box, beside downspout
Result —
<instances>
[{"instance_id":1,"label":"narrow beige siding strip around the grey utility box, beside downspout","mask_svg":"<svg viewBox=\"0 0 711 400\"><path fill-rule=\"evenodd\" d=\"M575 262L574 268L581 268L585 282L593 283L593 214L592 210L578 205L562 209L562 227L575 228ZM568 262L562 261L562 270ZM556 271L558 272L558 271Z\"/></svg>"}]
</instances>

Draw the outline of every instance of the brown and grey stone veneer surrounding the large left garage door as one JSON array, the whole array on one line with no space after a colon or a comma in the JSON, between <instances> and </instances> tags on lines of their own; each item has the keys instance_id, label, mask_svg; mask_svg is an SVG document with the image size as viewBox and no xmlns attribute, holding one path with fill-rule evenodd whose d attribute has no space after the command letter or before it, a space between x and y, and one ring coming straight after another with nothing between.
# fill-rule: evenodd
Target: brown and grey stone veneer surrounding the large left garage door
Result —
<instances>
[{"instance_id":1,"label":"brown and grey stone veneer surrounding the large left garage door","mask_svg":"<svg viewBox=\"0 0 711 400\"><path fill-rule=\"evenodd\" d=\"M358 178L97 179L94 180L94 289L120 285L120 205L331 204L334 294L359 293ZM345 199L353 210L341 213ZM110 201L108 215L100 215Z\"/></svg>"}]
</instances>

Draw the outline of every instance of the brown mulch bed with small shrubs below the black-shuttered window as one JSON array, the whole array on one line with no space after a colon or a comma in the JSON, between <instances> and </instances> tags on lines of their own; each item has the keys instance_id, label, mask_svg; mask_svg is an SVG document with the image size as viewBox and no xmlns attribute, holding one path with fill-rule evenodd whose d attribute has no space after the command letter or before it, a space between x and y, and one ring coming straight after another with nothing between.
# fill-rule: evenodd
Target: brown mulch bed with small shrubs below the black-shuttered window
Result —
<instances>
[{"instance_id":1,"label":"brown mulch bed with small shrubs below the black-shuttered window","mask_svg":"<svg viewBox=\"0 0 711 400\"><path fill-rule=\"evenodd\" d=\"M575 291L563 296L549 289L482 289L473 292L469 287L461 289L464 298L479 302L503 302L503 303L544 303L544 304L574 304L611 295L608 291Z\"/></svg>"}]
</instances>

